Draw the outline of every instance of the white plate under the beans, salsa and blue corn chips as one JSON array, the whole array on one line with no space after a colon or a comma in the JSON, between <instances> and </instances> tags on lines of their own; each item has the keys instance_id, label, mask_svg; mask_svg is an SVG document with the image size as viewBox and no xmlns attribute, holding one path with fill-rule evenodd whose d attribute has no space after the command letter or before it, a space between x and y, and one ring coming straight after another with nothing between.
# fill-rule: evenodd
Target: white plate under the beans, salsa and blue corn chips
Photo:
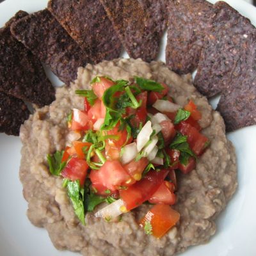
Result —
<instances>
[{"instance_id":1,"label":"white plate under the beans, salsa and blue corn chips","mask_svg":"<svg viewBox=\"0 0 256 256\"><path fill-rule=\"evenodd\" d=\"M255 7L241 0L227 2L256 24ZM46 5L47 0L6 0L0 4L0 27L18 10L31 13L42 10ZM165 43L166 38L159 54L159 60L163 61ZM54 84L59 84L56 79L51 79ZM184 256L256 255L256 126L231 132L228 138L236 147L239 187L227 209L218 218L216 235L207 244L189 248L182 254ZM19 181L20 140L0 134L0 141L0 255L77 255L56 250L46 230L36 228L28 221L27 202L22 196Z\"/></svg>"}]
</instances>

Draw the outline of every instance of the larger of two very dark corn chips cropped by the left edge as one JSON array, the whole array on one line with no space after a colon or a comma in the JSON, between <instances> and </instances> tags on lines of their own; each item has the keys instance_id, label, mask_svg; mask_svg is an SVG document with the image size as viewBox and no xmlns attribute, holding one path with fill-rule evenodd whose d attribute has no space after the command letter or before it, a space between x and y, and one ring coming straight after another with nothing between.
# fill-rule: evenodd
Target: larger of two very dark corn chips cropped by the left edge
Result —
<instances>
[{"instance_id":1,"label":"larger of two very dark corn chips cropped by the left edge","mask_svg":"<svg viewBox=\"0 0 256 256\"><path fill-rule=\"evenodd\" d=\"M20 11L0 29L0 91L44 106L55 99L55 89L40 60L10 33L13 22L27 16Z\"/></svg>"}]
</instances>

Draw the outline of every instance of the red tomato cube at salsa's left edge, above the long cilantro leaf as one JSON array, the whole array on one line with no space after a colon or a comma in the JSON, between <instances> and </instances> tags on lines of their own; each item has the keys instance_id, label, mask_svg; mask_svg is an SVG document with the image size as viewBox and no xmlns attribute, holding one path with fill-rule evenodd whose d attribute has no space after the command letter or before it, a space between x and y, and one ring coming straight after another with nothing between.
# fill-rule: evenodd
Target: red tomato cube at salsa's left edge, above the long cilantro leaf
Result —
<instances>
[{"instance_id":1,"label":"red tomato cube at salsa's left edge, above the long cilantro leaf","mask_svg":"<svg viewBox=\"0 0 256 256\"><path fill-rule=\"evenodd\" d=\"M72 157L61 172L61 175L72 181L79 180L80 185L83 186L88 167L84 159Z\"/></svg>"}]
</instances>

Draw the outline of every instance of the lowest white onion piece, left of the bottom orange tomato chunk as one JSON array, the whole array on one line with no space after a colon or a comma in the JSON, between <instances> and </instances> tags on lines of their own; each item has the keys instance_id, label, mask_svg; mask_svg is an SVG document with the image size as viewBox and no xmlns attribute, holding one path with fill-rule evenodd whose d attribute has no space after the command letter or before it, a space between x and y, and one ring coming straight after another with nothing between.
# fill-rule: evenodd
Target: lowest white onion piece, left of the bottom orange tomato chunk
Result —
<instances>
[{"instance_id":1,"label":"lowest white onion piece, left of the bottom orange tomato chunk","mask_svg":"<svg viewBox=\"0 0 256 256\"><path fill-rule=\"evenodd\" d=\"M123 212L121 211L121 207L124 206L124 201L122 199L118 199L112 204L107 205L106 207L100 209L95 213L95 217L97 218L108 218L108 220L112 220L116 218Z\"/></svg>"}]
</instances>

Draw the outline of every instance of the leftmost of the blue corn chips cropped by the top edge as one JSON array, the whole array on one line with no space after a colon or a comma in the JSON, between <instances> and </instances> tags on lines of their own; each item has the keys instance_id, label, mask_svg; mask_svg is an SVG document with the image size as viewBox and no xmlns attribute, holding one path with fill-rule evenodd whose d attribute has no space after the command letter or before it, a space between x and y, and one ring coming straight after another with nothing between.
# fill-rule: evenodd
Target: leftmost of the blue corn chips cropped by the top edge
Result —
<instances>
[{"instance_id":1,"label":"leftmost of the blue corn chips cropped by the top edge","mask_svg":"<svg viewBox=\"0 0 256 256\"><path fill-rule=\"evenodd\" d=\"M51 0L48 9L90 56L90 63L120 56L121 42L99 0Z\"/></svg>"}]
</instances>

